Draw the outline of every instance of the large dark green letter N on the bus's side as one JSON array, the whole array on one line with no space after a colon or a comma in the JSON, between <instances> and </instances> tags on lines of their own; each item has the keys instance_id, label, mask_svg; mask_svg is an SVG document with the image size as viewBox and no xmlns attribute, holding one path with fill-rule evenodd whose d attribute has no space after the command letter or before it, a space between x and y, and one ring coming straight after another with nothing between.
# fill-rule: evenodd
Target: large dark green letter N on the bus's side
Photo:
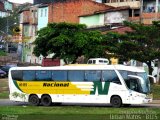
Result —
<instances>
[{"instance_id":1,"label":"large dark green letter N on the bus's side","mask_svg":"<svg viewBox=\"0 0 160 120\"><path fill-rule=\"evenodd\" d=\"M91 95L95 95L96 90L98 90L98 95L107 95L109 90L110 82L105 82L104 86L102 82L94 82L94 91L91 91Z\"/></svg>"}]
</instances>

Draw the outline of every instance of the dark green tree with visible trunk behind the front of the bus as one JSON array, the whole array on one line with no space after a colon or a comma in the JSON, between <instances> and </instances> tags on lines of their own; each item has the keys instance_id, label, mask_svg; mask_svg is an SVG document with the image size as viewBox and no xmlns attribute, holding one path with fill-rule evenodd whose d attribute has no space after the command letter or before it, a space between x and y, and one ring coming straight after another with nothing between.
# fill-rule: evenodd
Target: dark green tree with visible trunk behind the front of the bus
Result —
<instances>
[{"instance_id":1,"label":"dark green tree with visible trunk behind the front of the bus","mask_svg":"<svg viewBox=\"0 0 160 120\"><path fill-rule=\"evenodd\" d=\"M160 57L160 29L157 23L143 25L124 22L124 25L132 28L132 31L121 35L106 34L107 51L116 56L146 63L149 74L152 74L151 62Z\"/></svg>"}]
</instances>

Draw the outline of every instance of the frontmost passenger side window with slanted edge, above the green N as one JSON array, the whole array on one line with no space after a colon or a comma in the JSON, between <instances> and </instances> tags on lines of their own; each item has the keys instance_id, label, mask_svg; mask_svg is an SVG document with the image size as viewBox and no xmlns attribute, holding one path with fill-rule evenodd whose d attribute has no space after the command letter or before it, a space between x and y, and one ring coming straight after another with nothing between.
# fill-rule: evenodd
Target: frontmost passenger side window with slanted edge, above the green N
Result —
<instances>
[{"instance_id":1,"label":"frontmost passenger side window with slanted edge, above the green N","mask_svg":"<svg viewBox=\"0 0 160 120\"><path fill-rule=\"evenodd\" d=\"M121 84L116 72L114 70L103 70L102 71L102 80L107 82L114 82Z\"/></svg>"}]
</instances>

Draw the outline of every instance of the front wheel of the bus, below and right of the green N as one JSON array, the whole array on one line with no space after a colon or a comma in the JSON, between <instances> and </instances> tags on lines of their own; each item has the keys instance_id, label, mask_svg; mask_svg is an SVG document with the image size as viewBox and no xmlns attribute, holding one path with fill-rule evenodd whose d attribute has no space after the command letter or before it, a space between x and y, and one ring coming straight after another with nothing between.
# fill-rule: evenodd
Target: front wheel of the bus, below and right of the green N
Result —
<instances>
[{"instance_id":1,"label":"front wheel of the bus, below and right of the green N","mask_svg":"<svg viewBox=\"0 0 160 120\"><path fill-rule=\"evenodd\" d=\"M113 107L116 107L116 108L121 107L122 106L122 100L119 96L113 96L111 98L111 104L112 104Z\"/></svg>"}]
</instances>

